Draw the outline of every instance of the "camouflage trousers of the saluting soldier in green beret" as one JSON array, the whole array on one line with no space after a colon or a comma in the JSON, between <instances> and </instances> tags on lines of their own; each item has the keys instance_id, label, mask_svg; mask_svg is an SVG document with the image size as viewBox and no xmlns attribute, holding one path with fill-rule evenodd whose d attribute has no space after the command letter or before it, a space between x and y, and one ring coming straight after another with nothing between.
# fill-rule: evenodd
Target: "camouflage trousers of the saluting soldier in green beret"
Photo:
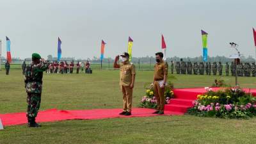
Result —
<instances>
[{"instance_id":1,"label":"camouflage trousers of the saluting soldier in green beret","mask_svg":"<svg viewBox=\"0 0 256 144\"><path fill-rule=\"evenodd\" d=\"M35 118L40 108L41 93L28 93L27 102L27 117Z\"/></svg>"}]
</instances>

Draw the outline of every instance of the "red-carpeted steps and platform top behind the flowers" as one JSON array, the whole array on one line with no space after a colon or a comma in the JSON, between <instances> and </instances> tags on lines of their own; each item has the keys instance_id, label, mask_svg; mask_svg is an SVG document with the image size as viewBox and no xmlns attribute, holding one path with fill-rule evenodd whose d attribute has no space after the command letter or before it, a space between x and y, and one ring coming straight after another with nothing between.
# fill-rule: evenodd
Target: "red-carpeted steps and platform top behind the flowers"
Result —
<instances>
[{"instance_id":1,"label":"red-carpeted steps and platform top behind the flowers","mask_svg":"<svg viewBox=\"0 0 256 144\"><path fill-rule=\"evenodd\" d=\"M220 88L212 88L213 91L220 90ZM256 97L256 89L243 89L246 93L252 93ZM193 106L193 100L196 100L197 95L206 92L205 88L183 88L175 89L174 98L171 99L170 104L164 106L165 111L172 111L178 113L186 113L189 108Z\"/></svg>"}]
</instances>

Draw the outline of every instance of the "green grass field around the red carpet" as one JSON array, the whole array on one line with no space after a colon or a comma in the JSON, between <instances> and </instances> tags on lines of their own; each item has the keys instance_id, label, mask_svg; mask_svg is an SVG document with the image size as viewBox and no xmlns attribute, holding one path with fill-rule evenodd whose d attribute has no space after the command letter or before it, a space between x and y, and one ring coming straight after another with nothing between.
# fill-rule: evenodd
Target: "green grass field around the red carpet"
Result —
<instances>
[{"instance_id":1,"label":"green grass field around the red carpet","mask_svg":"<svg viewBox=\"0 0 256 144\"><path fill-rule=\"evenodd\" d=\"M152 71L137 71L133 106L152 81ZM175 88L211 86L219 76L174 75ZM221 77L234 86L234 77ZM0 71L0 113L26 111L24 77L19 69L10 76ZM122 108L118 70L93 70L88 74L44 74L40 110ZM256 77L239 77L242 87L256 88ZM104 120L68 120L4 127L0 143L255 143L256 118L225 120L196 116L154 116Z\"/></svg>"}]
</instances>

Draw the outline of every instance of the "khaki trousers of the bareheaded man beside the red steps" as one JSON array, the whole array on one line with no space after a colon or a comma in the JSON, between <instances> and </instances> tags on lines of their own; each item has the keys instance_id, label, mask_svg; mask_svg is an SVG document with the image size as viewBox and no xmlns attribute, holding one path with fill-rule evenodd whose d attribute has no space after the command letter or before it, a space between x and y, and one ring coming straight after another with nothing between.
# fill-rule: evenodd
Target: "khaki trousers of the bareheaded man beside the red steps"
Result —
<instances>
[{"instance_id":1,"label":"khaki trousers of the bareheaded man beside the red steps","mask_svg":"<svg viewBox=\"0 0 256 144\"><path fill-rule=\"evenodd\" d=\"M164 88L160 88L158 81L154 82L154 95L157 100L157 110L164 111Z\"/></svg>"}]
</instances>

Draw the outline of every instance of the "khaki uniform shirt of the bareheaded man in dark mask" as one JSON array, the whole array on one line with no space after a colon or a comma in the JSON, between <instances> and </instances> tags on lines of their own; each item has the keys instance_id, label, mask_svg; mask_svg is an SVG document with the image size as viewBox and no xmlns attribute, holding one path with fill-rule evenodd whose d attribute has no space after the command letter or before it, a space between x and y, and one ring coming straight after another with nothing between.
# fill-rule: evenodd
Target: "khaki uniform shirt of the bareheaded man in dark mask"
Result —
<instances>
[{"instance_id":1,"label":"khaki uniform shirt of the bareheaded man in dark mask","mask_svg":"<svg viewBox=\"0 0 256 144\"><path fill-rule=\"evenodd\" d=\"M164 74L168 74L168 63L156 63L154 66L154 81L161 81L164 79Z\"/></svg>"}]
</instances>

